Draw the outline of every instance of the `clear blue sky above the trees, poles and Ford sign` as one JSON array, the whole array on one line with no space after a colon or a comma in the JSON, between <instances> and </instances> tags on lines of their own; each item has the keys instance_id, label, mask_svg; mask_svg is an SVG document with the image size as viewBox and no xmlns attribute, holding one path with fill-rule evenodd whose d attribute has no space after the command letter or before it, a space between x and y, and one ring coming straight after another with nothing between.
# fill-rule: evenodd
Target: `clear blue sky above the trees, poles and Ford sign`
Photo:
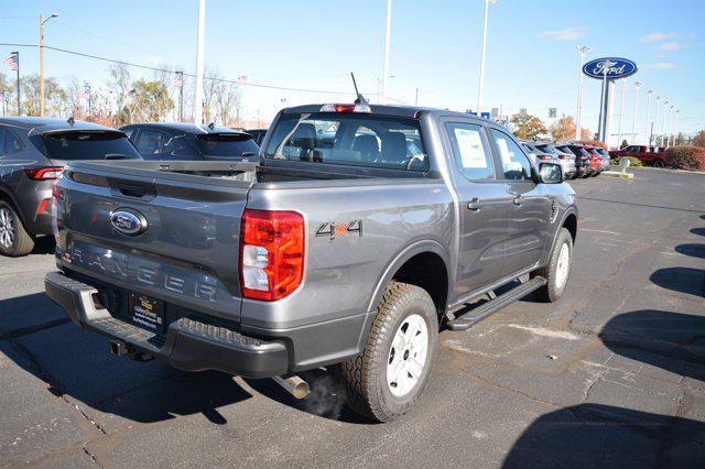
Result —
<instances>
[{"instance_id":1,"label":"clear blue sky above the trees, poles and Ford sign","mask_svg":"<svg viewBox=\"0 0 705 469\"><path fill-rule=\"evenodd\" d=\"M195 68L197 0L120 2L3 0L0 42L36 43L40 12L61 17L46 25L46 45L170 68ZM389 96L420 105L474 108L477 97L484 0L394 0ZM355 70L362 91L377 92L382 74L384 0L207 0L206 63L235 79L347 91ZM631 126L633 83L681 109L679 128L705 127L705 1L498 0L490 6L485 102L505 112L527 108L547 121L547 109L575 113L578 55L633 59L625 128ZM0 45L4 58L15 47ZM21 48L22 72L39 69L35 50ZM48 51L46 74L105 84L108 64ZM9 69L2 66L8 75ZM150 73L132 70L134 76ZM584 79L584 123L597 128L599 81ZM98 85L100 86L100 85ZM104 85L105 86L105 85ZM617 88L620 90L620 87ZM271 119L288 105L340 96L242 88L246 112ZM351 96L350 96L351 99ZM619 99L619 94L617 94ZM615 111L619 108L618 101ZM617 120L614 120L616 131Z\"/></svg>"}]
</instances>

